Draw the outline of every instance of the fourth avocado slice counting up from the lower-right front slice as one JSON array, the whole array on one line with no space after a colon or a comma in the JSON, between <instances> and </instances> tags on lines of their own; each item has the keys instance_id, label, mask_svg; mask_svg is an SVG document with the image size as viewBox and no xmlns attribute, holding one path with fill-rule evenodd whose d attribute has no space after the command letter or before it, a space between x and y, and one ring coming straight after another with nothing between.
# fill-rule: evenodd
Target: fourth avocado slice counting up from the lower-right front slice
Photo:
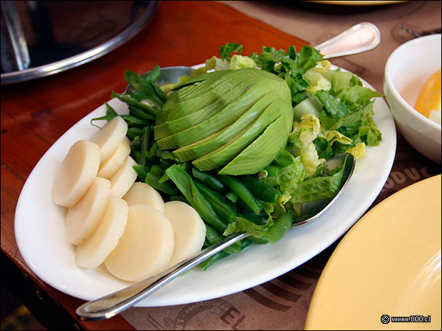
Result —
<instances>
[{"instance_id":1,"label":"fourth avocado slice counting up from the lower-right front slice","mask_svg":"<svg viewBox=\"0 0 442 331\"><path fill-rule=\"evenodd\" d=\"M268 92L265 88L265 83L265 81L264 83L258 81L255 86L249 88L241 97L236 99L233 103L230 103L210 119L206 119L206 121L203 121L196 126L172 134L169 137L157 140L158 146L162 150L184 147L230 126L231 123L239 119L244 112L247 112L247 110L249 110L249 108L262 97L264 92Z\"/></svg>"}]
</instances>

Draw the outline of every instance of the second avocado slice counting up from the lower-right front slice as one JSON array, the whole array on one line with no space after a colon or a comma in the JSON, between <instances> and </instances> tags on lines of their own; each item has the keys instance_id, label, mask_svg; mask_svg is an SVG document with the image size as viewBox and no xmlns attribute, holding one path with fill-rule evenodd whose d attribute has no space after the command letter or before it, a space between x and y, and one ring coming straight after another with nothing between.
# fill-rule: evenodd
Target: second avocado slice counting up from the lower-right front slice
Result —
<instances>
[{"instance_id":1,"label":"second avocado slice counting up from the lower-right front slice","mask_svg":"<svg viewBox=\"0 0 442 331\"><path fill-rule=\"evenodd\" d=\"M224 144L224 146L193 161L193 165L200 170L212 170L226 165L257 139L271 123L281 117L278 108L283 106L284 103L279 98L273 99L273 102L251 126Z\"/></svg>"}]
</instances>

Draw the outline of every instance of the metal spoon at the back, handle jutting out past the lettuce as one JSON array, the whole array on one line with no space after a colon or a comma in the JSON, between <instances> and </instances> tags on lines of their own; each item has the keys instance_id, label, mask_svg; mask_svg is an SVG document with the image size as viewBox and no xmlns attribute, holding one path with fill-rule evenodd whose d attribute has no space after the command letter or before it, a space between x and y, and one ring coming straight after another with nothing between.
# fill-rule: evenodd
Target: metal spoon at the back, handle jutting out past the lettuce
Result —
<instances>
[{"instance_id":1,"label":"metal spoon at the back, handle jutting out past the lettuce","mask_svg":"<svg viewBox=\"0 0 442 331\"><path fill-rule=\"evenodd\" d=\"M359 54L372 50L381 43L381 32L372 23L358 23L336 35L335 37L314 46L324 55L324 59L344 57L351 54ZM177 83L182 76L191 76L193 68L186 66L161 68L157 85ZM143 75L147 74L145 72ZM128 85L125 93L132 92L133 87Z\"/></svg>"}]
</instances>

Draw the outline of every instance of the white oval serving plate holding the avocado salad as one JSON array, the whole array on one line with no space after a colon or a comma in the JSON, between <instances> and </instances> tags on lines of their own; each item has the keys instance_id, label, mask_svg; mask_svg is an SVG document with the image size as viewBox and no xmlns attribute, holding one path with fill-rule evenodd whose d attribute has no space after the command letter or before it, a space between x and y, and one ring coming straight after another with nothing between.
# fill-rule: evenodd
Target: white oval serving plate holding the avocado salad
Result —
<instances>
[{"instance_id":1,"label":"white oval serving plate holding the avocado salad","mask_svg":"<svg viewBox=\"0 0 442 331\"><path fill-rule=\"evenodd\" d=\"M121 101L112 99L108 103L119 114L127 113ZM392 168L396 129L383 98L376 99L374 112L383 139L379 146L367 147L367 154L358 161L345 192L323 217L290 230L274 245L253 244L236 256L214 263L204 272L194 268L137 306L193 303L240 292L289 272L336 241L376 199ZM52 202L52 185L70 146L79 139L89 139L97 130L90 125L90 119L105 113L105 106L97 108L51 146L23 186L15 212L15 237L29 268L57 290L87 301L121 290L130 283L111 276L103 265L86 270L75 264L75 247L65 238L66 210Z\"/></svg>"}]
</instances>

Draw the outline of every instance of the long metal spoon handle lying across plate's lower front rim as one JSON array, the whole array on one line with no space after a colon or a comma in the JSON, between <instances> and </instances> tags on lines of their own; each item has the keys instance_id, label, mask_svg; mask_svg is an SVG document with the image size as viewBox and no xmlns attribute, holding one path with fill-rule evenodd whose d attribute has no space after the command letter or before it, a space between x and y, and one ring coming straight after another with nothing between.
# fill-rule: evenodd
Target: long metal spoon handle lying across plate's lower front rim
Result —
<instances>
[{"instance_id":1,"label":"long metal spoon handle lying across plate's lower front rim","mask_svg":"<svg viewBox=\"0 0 442 331\"><path fill-rule=\"evenodd\" d=\"M224 248L227 248L233 243L248 236L249 234L245 232L231 234L231 236L223 239L215 245L211 245L195 256L174 265L160 274L139 281L128 288L109 294L106 297L80 305L75 313L77 314L77 317L83 321L99 321L101 319L113 317L127 308L130 308L132 305L135 305L135 303L141 301L153 292L159 290L163 285L166 285L169 281L180 276L180 274L183 274L200 264L202 261L205 261L221 250L224 250Z\"/></svg>"}]
</instances>

